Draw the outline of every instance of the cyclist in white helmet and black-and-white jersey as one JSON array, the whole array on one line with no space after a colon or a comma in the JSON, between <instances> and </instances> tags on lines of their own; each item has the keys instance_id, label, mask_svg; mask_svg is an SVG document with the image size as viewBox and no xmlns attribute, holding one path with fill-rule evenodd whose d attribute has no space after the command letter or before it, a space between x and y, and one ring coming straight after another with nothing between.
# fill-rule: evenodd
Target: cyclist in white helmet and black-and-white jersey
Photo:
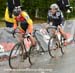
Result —
<instances>
[{"instance_id":1,"label":"cyclist in white helmet and black-and-white jersey","mask_svg":"<svg viewBox=\"0 0 75 73\"><path fill-rule=\"evenodd\" d=\"M57 4L52 4L48 11L48 24L50 22L52 22L53 26L58 27L60 33L62 34L64 39L66 39L64 44L67 45L67 43L69 42L68 39L70 37L63 31L61 27L64 24L64 16ZM55 33L55 30L53 30L53 32Z\"/></svg>"}]
</instances>

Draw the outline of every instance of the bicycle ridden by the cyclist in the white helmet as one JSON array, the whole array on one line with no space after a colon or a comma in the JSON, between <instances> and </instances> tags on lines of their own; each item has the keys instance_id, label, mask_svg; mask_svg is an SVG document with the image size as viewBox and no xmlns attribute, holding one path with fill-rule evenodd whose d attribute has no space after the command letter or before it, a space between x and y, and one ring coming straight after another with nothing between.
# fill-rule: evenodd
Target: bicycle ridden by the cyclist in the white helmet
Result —
<instances>
[{"instance_id":1,"label":"bicycle ridden by the cyclist in the white helmet","mask_svg":"<svg viewBox=\"0 0 75 73\"><path fill-rule=\"evenodd\" d=\"M55 26L50 26L47 28L47 32L51 32L49 31L50 30L56 30L57 29L57 34L54 34L54 33L50 33L50 39L49 39L49 43L48 43L48 52L49 52L49 55L54 58L57 56L59 56L59 50L61 51L61 54L63 55L64 54L64 51L62 49L62 47L64 46L64 38L63 36L58 33L60 32L59 29Z\"/></svg>"}]
</instances>

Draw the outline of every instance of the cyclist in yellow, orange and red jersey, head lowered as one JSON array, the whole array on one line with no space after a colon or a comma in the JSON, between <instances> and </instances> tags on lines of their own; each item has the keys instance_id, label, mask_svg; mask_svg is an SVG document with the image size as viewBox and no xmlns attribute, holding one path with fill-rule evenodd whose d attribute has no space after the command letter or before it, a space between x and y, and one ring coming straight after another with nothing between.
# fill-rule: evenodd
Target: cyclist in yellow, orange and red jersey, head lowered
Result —
<instances>
[{"instance_id":1,"label":"cyclist in yellow, orange and red jersey, head lowered","mask_svg":"<svg viewBox=\"0 0 75 73\"><path fill-rule=\"evenodd\" d=\"M20 32L21 33L26 33L28 32L29 38L31 40L31 43L33 46L35 46L35 40L32 37L32 32L33 32L33 22L30 19L29 15L21 10L21 6L15 7L13 10L13 18L14 18L14 31L16 30L18 26L18 22L20 23Z\"/></svg>"}]
</instances>

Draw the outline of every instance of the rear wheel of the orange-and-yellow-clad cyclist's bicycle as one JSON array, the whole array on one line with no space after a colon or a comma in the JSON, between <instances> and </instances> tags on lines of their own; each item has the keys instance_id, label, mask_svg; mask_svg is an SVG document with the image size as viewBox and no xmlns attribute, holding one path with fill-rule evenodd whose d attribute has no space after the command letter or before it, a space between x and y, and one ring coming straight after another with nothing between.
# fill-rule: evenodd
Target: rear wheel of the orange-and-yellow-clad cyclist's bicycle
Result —
<instances>
[{"instance_id":1,"label":"rear wheel of the orange-and-yellow-clad cyclist's bicycle","mask_svg":"<svg viewBox=\"0 0 75 73\"><path fill-rule=\"evenodd\" d=\"M38 61L38 58L41 57L41 55L43 55L44 52L41 49L41 46L37 43L37 45L31 46L30 50L29 50L29 62L30 64L34 64L36 61Z\"/></svg>"}]
</instances>

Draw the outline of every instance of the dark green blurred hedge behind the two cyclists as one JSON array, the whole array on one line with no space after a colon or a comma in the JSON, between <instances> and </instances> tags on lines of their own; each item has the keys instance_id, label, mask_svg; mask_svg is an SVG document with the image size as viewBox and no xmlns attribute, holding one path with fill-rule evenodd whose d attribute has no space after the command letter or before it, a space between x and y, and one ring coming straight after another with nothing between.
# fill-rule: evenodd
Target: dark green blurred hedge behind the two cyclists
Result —
<instances>
[{"instance_id":1,"label":"dark green blurred hedge behind the two cyclists","mask_svg":"<svg viewBox=\"0 0 75 73\"><path fill-rule=\"evenodd\" d=\"M7 0L0 0L0 19L4 17L4 12L6 8ZM47 12L50 4L55 3L57 0L21 0L21 5L23 9L29 13L29 15L35 19L45 19L47 18ZM68 15L68 18L75 17L75 0L70 0L70 4L73 7L72 12ZM66 12L63 12L65 18L67 18Z\"/></svg>"}]
</instances>

